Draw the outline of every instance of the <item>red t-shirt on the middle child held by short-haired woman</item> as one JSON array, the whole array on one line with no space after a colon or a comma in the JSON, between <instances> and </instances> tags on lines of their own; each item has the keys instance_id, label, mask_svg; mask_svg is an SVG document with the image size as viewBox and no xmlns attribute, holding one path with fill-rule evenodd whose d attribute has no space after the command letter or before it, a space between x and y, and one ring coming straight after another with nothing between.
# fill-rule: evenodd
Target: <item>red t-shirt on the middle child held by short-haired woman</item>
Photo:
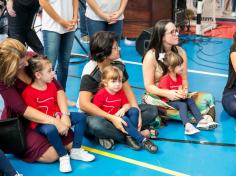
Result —
<instances>
[{"instance_id":1,"label":"red t-shirt on the middle child held by short-haired woman","mask_svg":"<svg viewBox=\"0 0 236 176\"><path fill-rule=\"evenodd\" d=\"M100 89L93 97L93 103L109 114L115 114L123 105L129 103L121 89L116 94L110 94L105 88Z\"/></svg>"}]
</instances>

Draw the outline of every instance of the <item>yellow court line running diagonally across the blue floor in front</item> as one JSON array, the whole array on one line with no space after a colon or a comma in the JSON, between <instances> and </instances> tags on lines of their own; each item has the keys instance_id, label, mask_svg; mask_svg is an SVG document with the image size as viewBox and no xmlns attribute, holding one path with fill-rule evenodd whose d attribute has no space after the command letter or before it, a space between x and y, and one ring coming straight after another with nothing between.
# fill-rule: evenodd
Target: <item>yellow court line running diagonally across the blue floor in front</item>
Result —
<instances>
[{"instance_id":1,"label":"yellow court line running diagonally across the blue floor in front","mask_svg":"<svg viewBox=\"0 0 236 176\"><path fill-rule=\"evenodd\" d=\"M148 164L148 163L145 163L145 162L141 162L141 161L137 161L137 160L134 160L134 159L126 158L126 157L123 157L123 156L120 156L120 155L115 155L115 154L112 154L112 153L104 152L104 151L97 150L97 149L90 148L90 147L86 147L86 146L82 146L82 147L85 150L87 150L89 152L92 152L92 153L96 153L96 154L99 154L99 155L103 155L103 156L106 156L106 157L109 157L109 158L117 159L117 160L120 160L120 161L124 161L124 162L130 163L130 164L138 165L138 166L145 167L145 168L148 168L148 169L152 169L152 170L155 170L155 171L163 172L163 173L166 173L166 174L169 174L169 175L189 176L189 175L186 175L186 174L183 174L183 173L180 173L180 172L172 171L170 169L166 169L166 168L163 168L163 167L158 167L158 166Z\"/></svg>"}]
</instances>

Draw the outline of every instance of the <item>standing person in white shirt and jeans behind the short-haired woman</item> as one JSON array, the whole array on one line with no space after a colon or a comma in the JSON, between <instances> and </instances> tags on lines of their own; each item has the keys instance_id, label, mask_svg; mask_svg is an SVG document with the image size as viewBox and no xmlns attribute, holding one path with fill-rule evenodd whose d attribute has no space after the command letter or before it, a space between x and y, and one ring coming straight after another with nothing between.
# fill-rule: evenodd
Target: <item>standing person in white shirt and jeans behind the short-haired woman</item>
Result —
<instances>
[{"instance_id":1,"label":"standing person in white shirt and jeans behind the short-haired woman","mask_svg":"<svg viewBox=\"0 0 236 176\"><path fill-rule=\"evenodd\" d=\"M85 16L89 37L99 31L112 31L119 43L127 2L128 0L87 0Z\"/></svg>"}]
</instances>

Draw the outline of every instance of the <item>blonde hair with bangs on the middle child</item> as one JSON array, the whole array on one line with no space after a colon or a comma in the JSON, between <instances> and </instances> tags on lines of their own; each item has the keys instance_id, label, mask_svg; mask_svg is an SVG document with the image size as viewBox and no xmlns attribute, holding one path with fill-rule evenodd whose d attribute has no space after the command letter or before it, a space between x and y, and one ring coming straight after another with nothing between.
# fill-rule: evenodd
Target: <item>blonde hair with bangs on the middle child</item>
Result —
<instances>
[{"instance_id":1,"label":"blonde hair with bangs on the middle child","mask_svg":"<svg viewBox=\"0 0 236 176\"><path fill-rule=\"evenodd\" d=\"M123 79L122 71L115 66L107 66L103 69L102 72L102 81L100 83L101 87L105 87L105 84L109 80L121 80Z\"/></svg>"}]
</instances>

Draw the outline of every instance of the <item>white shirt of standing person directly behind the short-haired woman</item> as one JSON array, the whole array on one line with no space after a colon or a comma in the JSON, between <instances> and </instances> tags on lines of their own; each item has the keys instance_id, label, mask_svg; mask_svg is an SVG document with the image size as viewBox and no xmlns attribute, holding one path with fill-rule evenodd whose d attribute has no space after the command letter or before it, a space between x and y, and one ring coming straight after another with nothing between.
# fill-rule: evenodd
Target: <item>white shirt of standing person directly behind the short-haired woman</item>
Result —
<instances>
[{"instance_id":1,"label":"white shirt of standing person directly behind the short-haired woman","mask_svg":"<svg viewBox=\"0 0 236 176\"><path fill-rule=\"evenodd\" d=\"M121 0L95 0L100 9L105 13L112 13L120 8ZM101 17L99 17L93 9L86 3L86 12L85 16L94 21L104 21ZM118 20L123 20L124 14L119 16Z\"/></svg>"}]
</instances>

